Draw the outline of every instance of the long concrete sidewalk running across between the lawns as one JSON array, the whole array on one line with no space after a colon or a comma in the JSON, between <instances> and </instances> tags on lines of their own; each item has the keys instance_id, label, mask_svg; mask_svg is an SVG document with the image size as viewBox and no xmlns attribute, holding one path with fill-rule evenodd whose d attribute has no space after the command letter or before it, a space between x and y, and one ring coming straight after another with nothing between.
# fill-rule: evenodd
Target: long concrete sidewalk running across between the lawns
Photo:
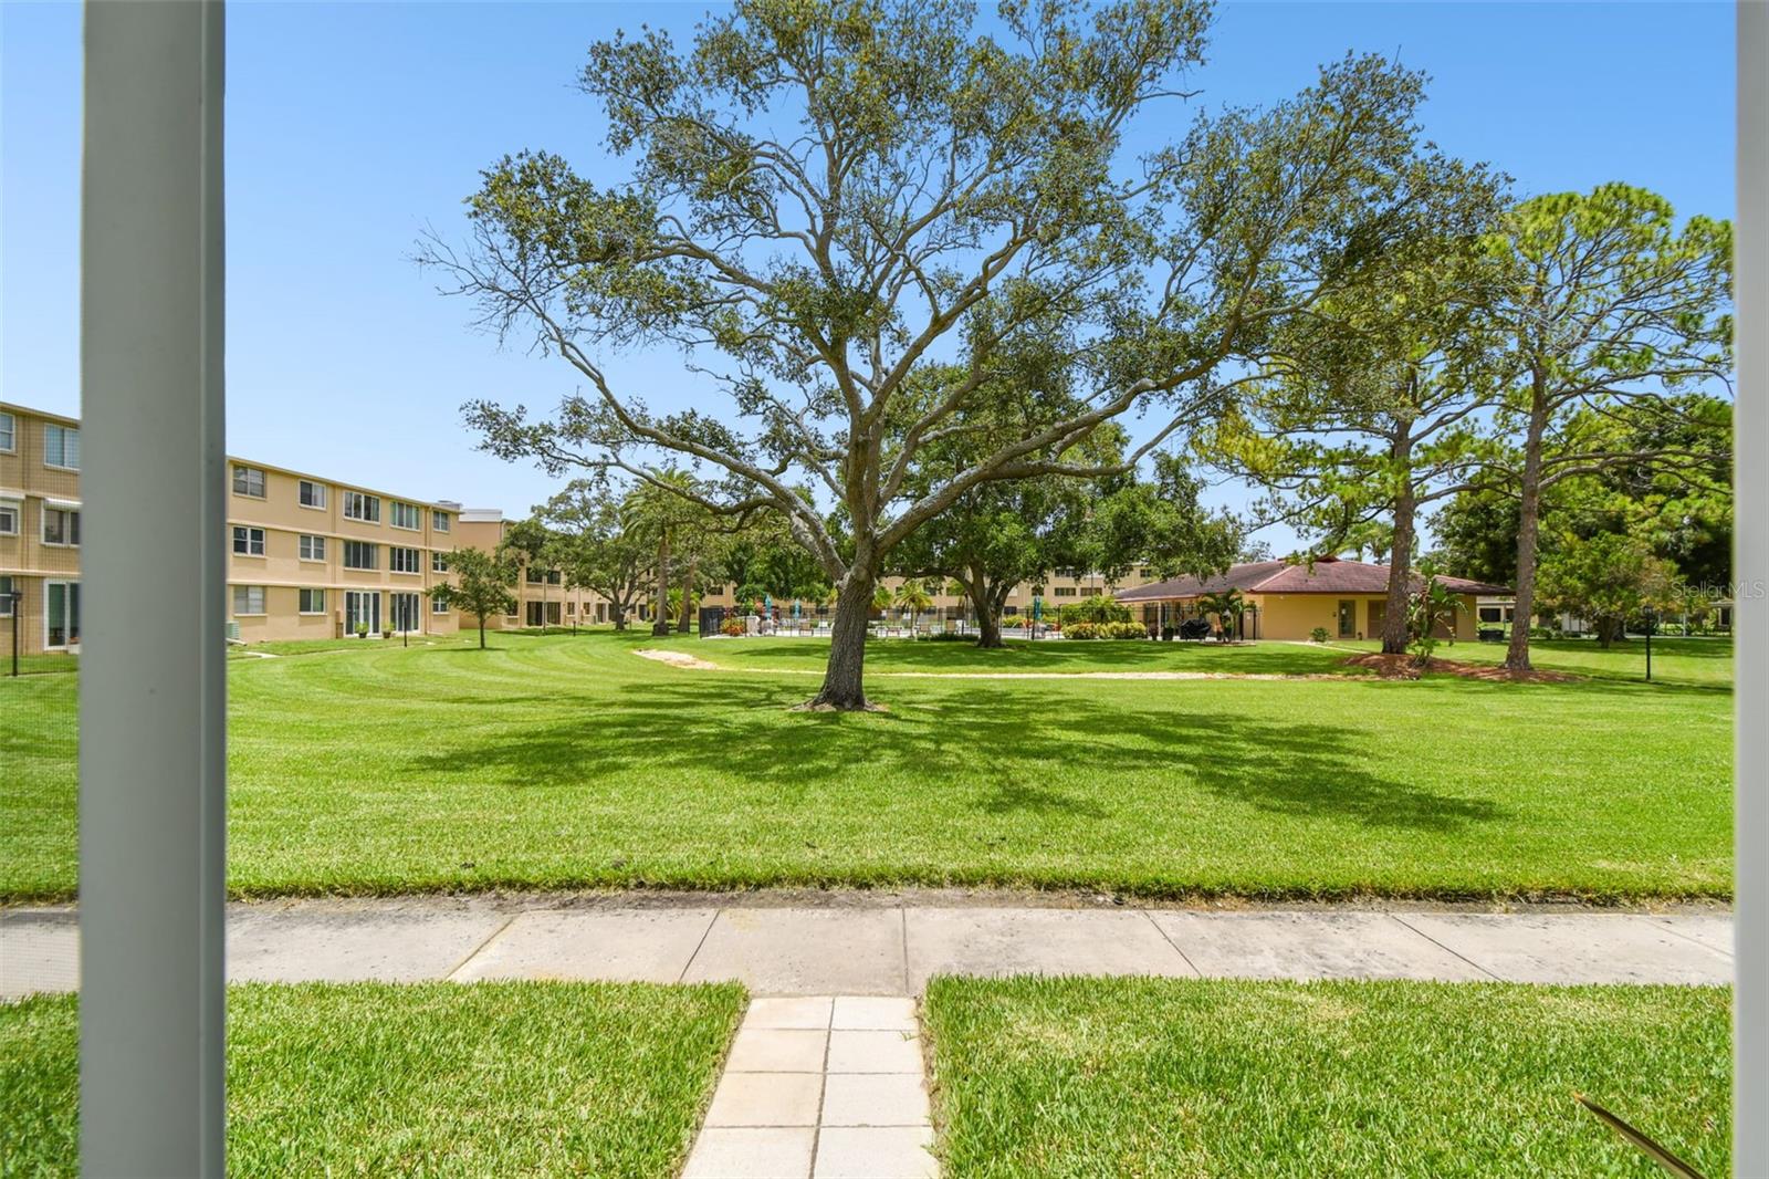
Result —
<instances>
[{"instance_id":1,"label":"long concrete sidewalk running across between the lawns","mask_svg":"<svg viewBox=\"0 0 1769 1179\"><path fill-rule=\"evenodd\" d=\"M0 997L78 986L71 908L0 912ZM1544 906L778 905L768 894L391 898L228 908L235 981L739 979L755 995L920 995L936 974L1730 982L1732 917Z\"/></svg>"}]
</instances>

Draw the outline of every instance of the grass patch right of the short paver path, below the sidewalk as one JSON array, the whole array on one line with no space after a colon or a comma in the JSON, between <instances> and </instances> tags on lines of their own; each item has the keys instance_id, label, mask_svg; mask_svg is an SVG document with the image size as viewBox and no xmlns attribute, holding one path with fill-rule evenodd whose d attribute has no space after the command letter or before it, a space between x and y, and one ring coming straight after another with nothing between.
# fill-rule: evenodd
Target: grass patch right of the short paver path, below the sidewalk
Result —
<instances>
[{"instance_id":1,"label":"grass patch right of the short paver path, below the sidewalk","mask_svg":"<svg viewBox=\"0 0 1769 1179\"><path fill-rule=\"evenodd\" d=\"M1590 1094L1730 1165L1730 991L936 979L946 1179L1638 1175Z\"/></svg>"}]
</instances>

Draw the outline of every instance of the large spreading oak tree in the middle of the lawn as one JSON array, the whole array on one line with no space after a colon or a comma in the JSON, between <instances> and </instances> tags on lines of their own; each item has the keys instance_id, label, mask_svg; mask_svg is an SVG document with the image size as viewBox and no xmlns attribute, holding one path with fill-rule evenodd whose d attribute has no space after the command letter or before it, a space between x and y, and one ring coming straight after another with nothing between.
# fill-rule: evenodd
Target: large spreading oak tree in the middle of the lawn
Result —
<instances>
[{"instance_id":1,"label":"large spreading oak tree in the middle of the lawn","mask_svg":"<svg viewBox=\"0 0 1769 1179\"><path fill-rule=\"evenodd\" d=\"M686 460L708 506L778 512L837 586L812 705L865 708L899 543L984 483L1130 469L1405 220L1419 76L1346 58L1185 126L1208 23L1201 0L1003 4L987 27L962 0L739 0L685 48L596 42L582 89L614 159L508 156L469 200L471 244L425 248L486 326L582 382L550 418L479 402L471 423L559 471ZM1139 117L1182 131L1130 159ZM911 496L992 359L1053 320L1074 404ZM623 382L623 347L681 349L692 409ZM930 361L952 379L913 381ZM1067 458L1130 411L1148 428L1122 462Z\"/></svg>"}]
</instances>

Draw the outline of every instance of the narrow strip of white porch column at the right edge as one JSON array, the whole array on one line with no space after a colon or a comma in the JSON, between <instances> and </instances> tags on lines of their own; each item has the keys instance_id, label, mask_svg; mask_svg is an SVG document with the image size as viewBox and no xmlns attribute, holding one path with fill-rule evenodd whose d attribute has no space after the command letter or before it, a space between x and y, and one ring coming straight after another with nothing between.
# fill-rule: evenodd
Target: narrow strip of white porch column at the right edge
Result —
<instances>
[{"instance_id":1,"label":"narrow strip of white porch column at the right edge","mask_svg":"<svg viewBox=\"0 0 1769 1179\"><path fill-rule=\"evenodd\" d=\"M1739 4L1739 220L1732 577L1737 666L1735 1053L1737 1175L1769 1175L1769 5Z\"/></svg>"}]
</instances>

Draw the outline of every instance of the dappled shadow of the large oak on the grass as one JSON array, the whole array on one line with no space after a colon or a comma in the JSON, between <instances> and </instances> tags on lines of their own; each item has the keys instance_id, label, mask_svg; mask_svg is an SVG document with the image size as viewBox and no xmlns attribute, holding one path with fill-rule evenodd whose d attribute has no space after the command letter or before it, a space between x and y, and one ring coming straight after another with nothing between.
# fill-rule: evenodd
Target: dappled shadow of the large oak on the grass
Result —
<instances>
[{"instance_id":1,"label":"dappled shadow of the large oak on the grass","mask_svg":"<svg viewBox=\"0 0 1769 1179\"><path fill-rule=\"evenodd\" d=\"M886 713L789 713L801 685L660 680L623 690L617 703L600 694L557 699L508 736L476 733L453 749L432 747L409 768L463 782L578 786L586 800L601 782L662 768L708 790L722 781L750 793L771 788L782 807L830 805L854 775L884 774L907 790L938 791L948 805L955 791L969 797L978 814L1083 823L1196 790L1275 814L1413 832L1509 814L1488 798L1373 770L1357 735L1330 724L1185 713L1122 694L1056 703L1024 690L893 694L902 703ZM1118 805L1120 797L1137 805Z\"/></svg>"}]
</instances>

